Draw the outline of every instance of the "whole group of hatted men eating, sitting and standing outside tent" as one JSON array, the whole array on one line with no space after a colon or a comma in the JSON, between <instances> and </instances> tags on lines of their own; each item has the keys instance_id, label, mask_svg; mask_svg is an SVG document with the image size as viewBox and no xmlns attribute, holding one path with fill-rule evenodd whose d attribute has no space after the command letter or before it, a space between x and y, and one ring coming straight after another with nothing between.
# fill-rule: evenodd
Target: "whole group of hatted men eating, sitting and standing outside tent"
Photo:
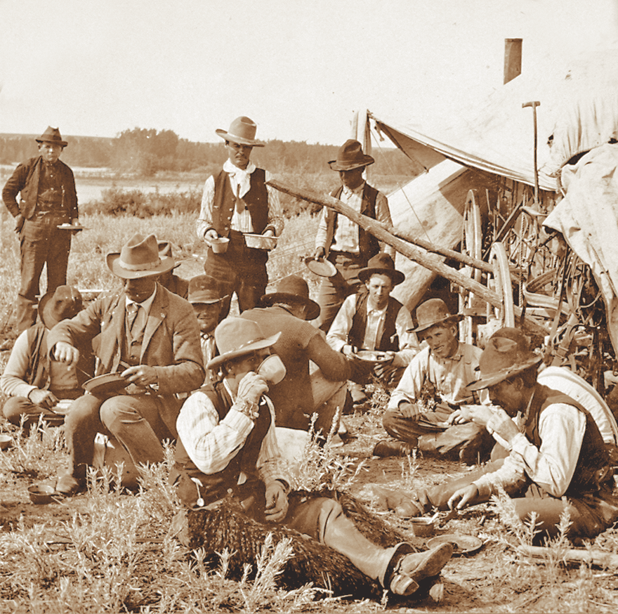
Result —
<instances>
[{"instance_id":1,"label":"whole group of hatted men eating, sitting and standing outside tent","mask_svg":"<svg viewBox=\"0 0 618 614\"><path fill-rule=\"evenodd\" d=\"M440 299L417 308L414 327L391 295L404 280L393 252L346 216L322 212L314 257L332 270L317 301L296 275L267 292L268 251L246 243L246 235L282 230L270 175L250 161L252 148L264 143L247 117L217 133L228 159L204 186L197 235L209 247L204 274L188 283L172 275L176 261L168 243L135 235L120 252L107 254L121 290L84 308L79 292L66 285L70 234L58 226L77 223L77 197L70 169L58 160L67 143L57 129L37 139L41 155L20 164L3 190L22 258L21 334L0 378L11 396L4 414L12 422L22 415L36 422L41 414L60 422L55 405L72 400L64 426L70 464L58 492L73 495L85 487L97 433L114 438L136 466L161 462L164 440L174 440L171 477L188 507L230 492L246 501L251 492L247 514L310 535L383 587L412 594L419 580L440 572L451 547L383 549L357 531L334 499L289 505L291 479L277 444L275 426L307 431L314 413L324 436L348 389L360 402L358 386L376 377L394 390L383 416L391 438L378 443L374 455L416 448L475 464L492 453L492 464L478 474L417 493L412 504L419 514L487 500L503 485L516 497L520 516L540 511L550 534L563 496L574 535L593 537L615 521L618 498L598 428L579 403L537 384L540 360L521 332L499 331L483 351L463 344L459 316ZM390 223L386 197L363 178L372 162L360 143L347 141L329 162L341 178L333 195ZM63 259L56 258L57 239ZM213 249L221 242L227 249ZM45 262L48 292L35 324ZM239 317L228 315L234 293ZM376 358L362 360L361 350ZM96 374L117 373L121 382L82 394L84 379L95 374L94 356Z\"/></svg>"}]
</instances>

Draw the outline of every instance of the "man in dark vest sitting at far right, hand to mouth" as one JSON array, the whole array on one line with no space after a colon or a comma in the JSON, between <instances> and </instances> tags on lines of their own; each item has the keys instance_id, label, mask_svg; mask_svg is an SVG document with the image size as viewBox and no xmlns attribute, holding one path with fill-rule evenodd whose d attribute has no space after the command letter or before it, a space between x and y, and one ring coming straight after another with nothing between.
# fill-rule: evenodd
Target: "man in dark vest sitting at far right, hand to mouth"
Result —
<instances>
[{"instance_id":1,"label":"man in dark vest sitting at far right, hand to mouth","mask_svg":"<svg viewBox=\"0 0 618 614\"><path fill-rule=\"evenodd\" d=\"M486 428L501 454L494 452L494 462L483 469L418 493L412 503L419 514L433 506L463 509L488 501L501 485L522 521L537 514L537 540L557 535L565 509L572 523L569 537L591 539L617 521L613 468L598 426L576 400L539 384L540 362L520 330L492 335L480 357L480 379L468 388L488 390L499 407L462 408L456 420ZM522 419L515 423L518 414Z\"/></svg>"}]
</instances>

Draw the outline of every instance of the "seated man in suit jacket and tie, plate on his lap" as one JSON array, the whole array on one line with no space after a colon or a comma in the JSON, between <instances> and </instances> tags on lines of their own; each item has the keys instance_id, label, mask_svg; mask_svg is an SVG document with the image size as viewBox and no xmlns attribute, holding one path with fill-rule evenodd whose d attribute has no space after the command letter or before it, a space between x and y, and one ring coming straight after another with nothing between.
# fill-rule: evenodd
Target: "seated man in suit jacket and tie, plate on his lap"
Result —
<instances>
[{"instance_id":1,"label":"seated man in suit jacket and tie, plate on his lap","mask_svg":"<svg viewBox=\"0 0 618 614\"><path fill-rule=\"evenodd\" d=\"M202 386L204 361L190 303L156 282L173 266L171 256L159 255L154 235L134 235L121 252L107 254L122 291L100 296L49 333L53 358L71 365L79 360L77 345L99 336L98 374L119 373L128 384L72 403L65 421L70 466L59 492L84 487L96 433L117 439L136 466L162 462L162 440L176 438L177 396Z\"/></svg>"}]
</instances>

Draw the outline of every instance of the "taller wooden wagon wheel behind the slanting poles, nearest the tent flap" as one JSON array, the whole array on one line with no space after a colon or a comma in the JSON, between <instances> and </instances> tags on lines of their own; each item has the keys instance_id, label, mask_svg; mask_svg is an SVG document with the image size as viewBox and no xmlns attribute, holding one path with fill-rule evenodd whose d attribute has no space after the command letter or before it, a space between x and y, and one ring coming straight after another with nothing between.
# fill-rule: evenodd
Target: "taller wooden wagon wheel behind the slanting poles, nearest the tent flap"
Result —
<instances>
[{"instance_id":1,"label":"taller wooden wagon wheel behind the slanting poles, nearest the tent flap","mask_svg":"<svg viewBox=\"0 0 618 614\"><path fill-rule=\"evenodd\" d=\"M476 200L476 190L469 190L463 209L463 225L461 228L461 253L480 260L482 258L482 225L480 207ZM465 266L461 269L463 275L480 282L481 271L478 268ZM474 294L463 288L459 291L459 313L470 310L473 306ZM472 315L465 315L459 327L459 341L473 344L474 322Z\"/></svg>"}]
</instances>

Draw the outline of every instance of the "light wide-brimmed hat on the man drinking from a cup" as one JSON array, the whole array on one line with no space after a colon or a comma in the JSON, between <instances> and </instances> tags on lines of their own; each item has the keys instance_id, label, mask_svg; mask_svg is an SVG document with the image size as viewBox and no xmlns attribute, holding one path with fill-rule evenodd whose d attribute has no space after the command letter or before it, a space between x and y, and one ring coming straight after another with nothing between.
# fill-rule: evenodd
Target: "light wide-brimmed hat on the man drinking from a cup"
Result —
<instances>
[{"instance_id":1,"label":"light wide-brimmed hat on the man drinking from a cup","mask_svg":"<svg viewBox=\"0 0 618 614\"><path fill-rule=\"evenodd\" d=\"M215 329L215 343L219 355L209 360L206 368L212 369L233 358L270 348L280 336L281 333L277 332L272 337L264 337L258 323L252 320L225 318Z\"/></svg>"}]
</instances>

